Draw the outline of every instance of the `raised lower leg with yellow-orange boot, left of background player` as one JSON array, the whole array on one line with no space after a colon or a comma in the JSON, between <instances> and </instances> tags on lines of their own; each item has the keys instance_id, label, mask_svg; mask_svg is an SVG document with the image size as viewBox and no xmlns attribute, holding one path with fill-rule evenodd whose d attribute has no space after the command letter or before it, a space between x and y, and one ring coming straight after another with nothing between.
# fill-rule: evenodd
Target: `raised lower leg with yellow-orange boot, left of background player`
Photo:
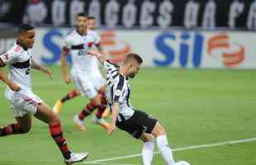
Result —
<instances>
[{"instance_id":1,"label":"raised lower leg with yellow-orange boot, left of background player","mask_svg":"<svg viewBox=\"0 0 256 165\"><path fill-rule=\"evenodd\" d=\"M68 92L64 97L58 99L55 102L55 105L53 107L53 111L55 112L55 114L58 115L60 113L65 101L69 101L69 100L73 99L74 97L78 97L79 95L80 95L80 92L78 91L78 89L73 89L70 92Z\"/></svg>"}]
</instances>

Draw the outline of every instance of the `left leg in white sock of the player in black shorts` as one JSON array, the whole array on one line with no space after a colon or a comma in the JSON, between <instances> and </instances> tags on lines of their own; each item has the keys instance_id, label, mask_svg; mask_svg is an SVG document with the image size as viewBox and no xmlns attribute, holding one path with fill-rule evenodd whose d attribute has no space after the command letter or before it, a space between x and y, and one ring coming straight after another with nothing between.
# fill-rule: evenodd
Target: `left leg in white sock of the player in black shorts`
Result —
<instances>
[{"instance_id":1,"label":"left leg in white sock of the player in black shorts","mask_svg":"<svg viewBox=\"0 0 256 165\"><path fill-rule=\"evenodd\" d=\"M143 133L140 139L144 142L142 148L142 160L144 165L151 165L154 155L154 136Z\"/></svg>"}]
</instances>

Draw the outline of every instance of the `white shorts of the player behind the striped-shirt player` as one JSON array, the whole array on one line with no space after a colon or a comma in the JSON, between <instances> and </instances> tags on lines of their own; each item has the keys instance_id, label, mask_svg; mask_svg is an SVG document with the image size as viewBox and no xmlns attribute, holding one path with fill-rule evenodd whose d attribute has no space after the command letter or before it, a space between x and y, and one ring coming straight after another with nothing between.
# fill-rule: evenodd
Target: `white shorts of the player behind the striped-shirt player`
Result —
<instances>
[{"instance_id":1,"label":"white shorts of the player behind the striped-shirt player","mask_svg":"<svg viewBox=\"0 0 256 165\"><path fill-rule=\"evenodd\" d=\"M88 73L71 71L71 78L79 92L89 99L96 97L98 93L97 91L106 85L99 70L94 70L93 73L89 75Z\"/></svg>"}]
</instances>

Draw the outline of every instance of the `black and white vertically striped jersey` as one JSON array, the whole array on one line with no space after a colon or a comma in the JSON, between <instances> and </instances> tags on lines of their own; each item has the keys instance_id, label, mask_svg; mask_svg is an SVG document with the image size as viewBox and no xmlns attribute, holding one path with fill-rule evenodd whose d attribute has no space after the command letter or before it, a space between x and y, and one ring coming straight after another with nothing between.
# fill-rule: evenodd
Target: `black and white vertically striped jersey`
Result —
<instances>
[{"instance_id":1,"label":"black and white vertically striped jersey","mask_svg":"<svg viewBox=\"0 0 256 165\"><path fill-rule=\"evenodd\" d=\"M104 62L104 68L107 72L107 103L112 107L115 102L119 102L119 114L117 120L127 120L135 112L130 105L129 82L125 76L119 73L118 65L112 64L107 60Z\"/></svg>"}]
</instances>

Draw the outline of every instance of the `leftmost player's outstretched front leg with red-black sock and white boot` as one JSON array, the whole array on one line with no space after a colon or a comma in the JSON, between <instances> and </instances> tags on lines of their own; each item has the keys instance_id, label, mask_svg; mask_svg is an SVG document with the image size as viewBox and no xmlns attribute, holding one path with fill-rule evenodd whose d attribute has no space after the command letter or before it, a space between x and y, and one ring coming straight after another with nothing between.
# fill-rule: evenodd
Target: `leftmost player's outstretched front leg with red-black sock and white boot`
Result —
<instances>
[{"instance_id":1,"label":"leftmost player's outstretched front leg with red-black sock and white boot","mask_svg":"<svg viewBox=\"0 0 256 165\"><path fill-rule=\"evenodd\" d=\"M64 138L60 120L48 106L44 103L40 103L37 106L37 111L34 116L49 125L50 134L58 145L60 152L63 154L66 164L81 162L88 157L88 153L71 153L66 139Z\"/></svg>"}]
</instances>

